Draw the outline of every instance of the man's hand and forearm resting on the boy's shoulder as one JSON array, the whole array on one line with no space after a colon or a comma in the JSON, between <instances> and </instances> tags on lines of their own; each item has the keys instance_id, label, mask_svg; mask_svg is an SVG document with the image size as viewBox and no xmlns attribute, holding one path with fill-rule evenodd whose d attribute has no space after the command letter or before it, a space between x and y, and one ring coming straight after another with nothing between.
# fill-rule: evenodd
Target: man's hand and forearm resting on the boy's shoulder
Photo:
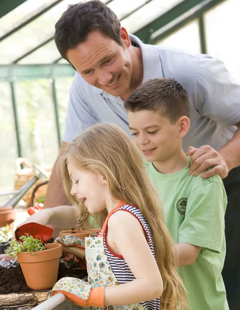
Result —
<instances>
[{"instance_id":1,"label":"man's hand and forearm resting on the boy's shoulder","mask_svg":"<svg viewBox=\"0 0 240 310\"><path fill-rule=\"evenodd\" d=\"M190 146L187 149L192 160L189 175L193 173L197 176L207 168L213 167L202 174L202 178L207 179L219 173L224 179L230 170L240 165L240 122L236 126L238 130L233 138L218 151L209 145L203 145L200 148Z\"/></svg>"}]
</instances>

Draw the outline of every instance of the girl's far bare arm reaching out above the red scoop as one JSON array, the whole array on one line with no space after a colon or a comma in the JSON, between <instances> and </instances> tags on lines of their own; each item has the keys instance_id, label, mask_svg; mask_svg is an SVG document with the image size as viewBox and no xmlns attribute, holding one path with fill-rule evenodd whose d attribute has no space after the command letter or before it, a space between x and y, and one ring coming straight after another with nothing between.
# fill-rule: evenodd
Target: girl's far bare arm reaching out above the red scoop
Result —
<instances>
[{"instance_id":1,"label":"girl's far bare arm reaching out above the red scoop","mask_svg":"<svg viewBox=\"0 0 240 310\"><path fill-rule=\"evenodd\" d=\"M74 227L77 224L78 208L75 206L58 206L43 209L31 215L20 225L34 222L42 225L54 225L58 227ZM20 226L19 225L19 226Z\"/></svg>"}]
</instances>

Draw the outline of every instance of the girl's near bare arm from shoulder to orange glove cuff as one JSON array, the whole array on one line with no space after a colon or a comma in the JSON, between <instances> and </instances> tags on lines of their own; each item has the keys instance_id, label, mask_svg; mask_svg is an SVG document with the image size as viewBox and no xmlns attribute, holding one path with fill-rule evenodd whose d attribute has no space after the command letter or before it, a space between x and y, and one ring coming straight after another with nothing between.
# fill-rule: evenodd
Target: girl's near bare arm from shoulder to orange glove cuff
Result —
<instances>
[{"instance_id":1,"label":"girl's near bare arm from shoulder to orange glove cuff","mask_svg":"<svg viewBox=\"0 0 240 310\"><path fill-rule=\"evenodd\" d=\"M115 212L108 221L106 240L111 251L124 257L136 280L106 287L104 305L141 303L160 297L162 277L139 220L129 212Z\"/></svg>"}]
</instances>

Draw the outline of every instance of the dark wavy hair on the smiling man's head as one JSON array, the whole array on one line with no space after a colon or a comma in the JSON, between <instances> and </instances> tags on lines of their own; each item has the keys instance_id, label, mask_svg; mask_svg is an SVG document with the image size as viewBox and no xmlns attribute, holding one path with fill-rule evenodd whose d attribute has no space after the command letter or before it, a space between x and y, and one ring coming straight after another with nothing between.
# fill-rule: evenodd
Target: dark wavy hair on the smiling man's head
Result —
<instances>
[{"instance_id":1,"label":"dark wavy hair on the smiling man's head","mask_svg":"<svg viewBox=\"0 0 240 310\"><path fill-rule=\"evenodd\" d=\"M62 58L69 49L87 40L89 33L100 31L122 45L120 21L113 11L99 0L70 5L55 25L55 43Z\"/></svg>"}]
</instances>

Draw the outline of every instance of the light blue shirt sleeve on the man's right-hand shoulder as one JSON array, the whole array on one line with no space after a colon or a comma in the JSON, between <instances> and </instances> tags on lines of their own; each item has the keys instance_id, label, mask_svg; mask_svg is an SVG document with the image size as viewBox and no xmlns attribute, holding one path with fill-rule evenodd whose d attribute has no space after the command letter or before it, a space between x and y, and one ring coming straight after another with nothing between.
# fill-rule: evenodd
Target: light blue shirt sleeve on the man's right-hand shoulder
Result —
<instances>
[{"instance_id":1,"label":"light blue shirt sleeve on the man's right-hand shoulder","mask_svg":"<svg viewBox=\"0 0 240 310\"><path fill-rule=\"evenodd\" d=\"M199 60L196 82L197 108L202 116L223 126L240 122L240 85L223 62L214 58Z\"/></svg>"}]
</instances>

